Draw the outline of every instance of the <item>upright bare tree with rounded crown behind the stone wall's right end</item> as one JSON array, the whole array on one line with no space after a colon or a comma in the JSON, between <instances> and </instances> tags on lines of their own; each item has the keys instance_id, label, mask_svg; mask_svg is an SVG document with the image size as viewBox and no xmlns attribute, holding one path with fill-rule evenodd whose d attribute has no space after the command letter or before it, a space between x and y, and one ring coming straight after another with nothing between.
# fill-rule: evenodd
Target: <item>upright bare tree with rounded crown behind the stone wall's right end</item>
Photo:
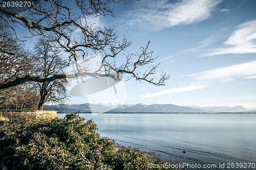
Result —
<instances>
[{"instance_id":1,"label":"upright bare tree with rounded crown behind the stone wall's right end","mask_svg":"<svg viewBox=\"0 0 256 170\"><path fill-rule=\"evenodd\" d=\"M63 60L60 50L49 40L38 39L34 47L36 75L48 78L55 74L64 74L63 68L68 63ZM44 83L37 83L40 91L38 110L44 108L46 102L64 104L67 101L67 90L65 79L57 79Z\"/></svg>"}]
</instances>

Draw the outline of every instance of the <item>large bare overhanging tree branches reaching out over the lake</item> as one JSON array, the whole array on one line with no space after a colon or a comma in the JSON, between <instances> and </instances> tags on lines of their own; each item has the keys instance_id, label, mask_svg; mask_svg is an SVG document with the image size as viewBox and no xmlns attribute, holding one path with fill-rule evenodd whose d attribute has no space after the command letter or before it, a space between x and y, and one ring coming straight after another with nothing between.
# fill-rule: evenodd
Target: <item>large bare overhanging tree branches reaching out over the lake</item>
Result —
<instances>
[{"instance_id":1,"label":"large bare overhanging tree branches reaching out over the lake","mask_svg":"<svg viewBox=\"0 0 256 170\"><path fill-rule=\"evenodd\" d=\"M162 73L158 81L154 77L159 63L149 68L144 68L145 65L154 63L157 58L153 57L153 52L147 52L150 42L148 42L146 47L141 47L140 53L122 55L121 53L132 42L128 41L125 37L120 40L115 30L111 27L95 28L93 23L87 20L92 15L114 16L111 3L115 3L115 1L76 0L74 2L77 9L71 10L62 4L62 1L38 1L38 3L32 4L24 15L19 15L0 7L0 19L14 31L16 38L18 38L16 34L17 28L14 26L27 28L32 37L43 36L52 42L56 42L57 46L69 56L67 63L74 63L76 66L76 72L70 75L55 73L50 77L42 77L30 73L24 76L16 76L10 81L2 82L0 89L9 88L28 81L39 83L51 82L66 79L67 76L69 78L100 76L119 80L119 74L127 74L137 80L145 80L157 86L164 85L164 81L169 78L169 75ZM79 12L74 13L74 11ZM79 36L77 36L78 33ZM5 50L3 45L0 45L0 50L5 54L14 54ZM104 72L90 71L79 65L79 59L87 61L92 54L102 55L102 65L99 70L103 68ZM124 62L117 65L115 59L120 57L123 57ZM141 67L146 71L137 71ZM116 72L116 74L110 74L110 72Z\"/></svg>"}]
</instances>

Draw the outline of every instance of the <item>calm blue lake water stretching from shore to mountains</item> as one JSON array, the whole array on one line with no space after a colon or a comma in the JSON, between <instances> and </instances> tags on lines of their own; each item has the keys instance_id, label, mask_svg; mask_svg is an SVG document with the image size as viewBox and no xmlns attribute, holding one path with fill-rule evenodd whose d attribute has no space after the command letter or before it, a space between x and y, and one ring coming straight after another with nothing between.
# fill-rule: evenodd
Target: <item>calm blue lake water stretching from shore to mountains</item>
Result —
<instances>
[{"instance_id":1,"label":"calm blue lake water stretching from shore to mountains","mask_svg":"<svg viewBox=\"0 0 256 170\"><path fill-rule=\"evenodd\" d=\"M191 169L198 169L195 163L200 164L199 169L256 169L256 114L253 113L80 116L86 120L93 118L102 137L115 139L126 147L154 151L167 160L186 162Z\"/></svg>"}]
</instances>

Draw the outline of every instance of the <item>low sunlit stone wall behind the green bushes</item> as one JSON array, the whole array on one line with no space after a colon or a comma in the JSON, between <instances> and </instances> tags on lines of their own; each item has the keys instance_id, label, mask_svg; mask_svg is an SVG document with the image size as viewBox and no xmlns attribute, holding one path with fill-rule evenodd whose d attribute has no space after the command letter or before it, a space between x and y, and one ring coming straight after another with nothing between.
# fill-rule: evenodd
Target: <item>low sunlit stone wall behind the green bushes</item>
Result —
<instances>
[{"instance_id":1,"label":"low sunlit stone wall behind the green bushes","mask_svg":"<svg viewBox=\"0 0 256 170\"><path fill-rule=\"evenodd\" d=\"M0 120L9 120L10 118L55 118L57 111L53 110L0 110Z\"/></svg>"}]
</instances>

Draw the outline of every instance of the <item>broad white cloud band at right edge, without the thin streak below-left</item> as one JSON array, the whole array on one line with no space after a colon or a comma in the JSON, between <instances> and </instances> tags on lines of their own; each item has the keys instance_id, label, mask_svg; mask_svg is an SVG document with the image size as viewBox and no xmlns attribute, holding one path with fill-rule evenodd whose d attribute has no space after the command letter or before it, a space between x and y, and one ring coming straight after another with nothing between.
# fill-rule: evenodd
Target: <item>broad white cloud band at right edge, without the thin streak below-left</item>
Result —
<instances>
[{"instance_id":1,"label":"broad white cloud band at right edge, without the thin streak below-left","mask_svg":"<svg viewBox=\"0 0 256 170\"><path fill-rule=\"evenodd\" d=\"M187 76L194 77L199 81L223 83L233 81L236 78L256 78L255 68L256 61L251 61L243 64L237 64L228 67L199 72L197 74L191 74Z\"/></svg>"}]
</instances>

